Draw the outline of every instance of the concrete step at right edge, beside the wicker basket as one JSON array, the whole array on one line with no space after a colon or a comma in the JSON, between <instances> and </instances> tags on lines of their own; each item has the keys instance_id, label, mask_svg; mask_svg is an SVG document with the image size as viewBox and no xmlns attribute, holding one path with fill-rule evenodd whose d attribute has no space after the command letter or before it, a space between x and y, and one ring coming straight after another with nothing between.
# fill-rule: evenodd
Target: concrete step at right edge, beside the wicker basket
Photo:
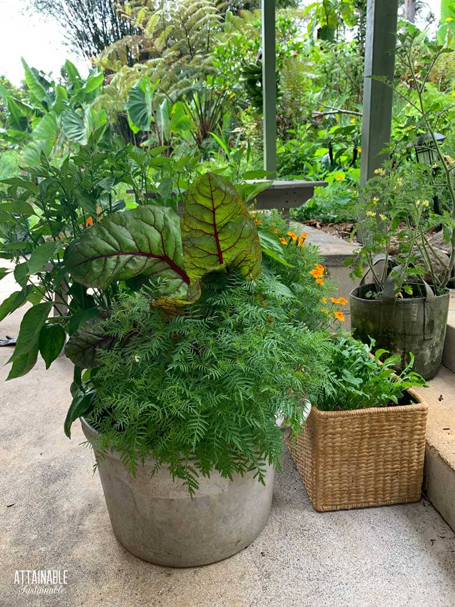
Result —
<instances>
[{"instance_id":1,"label":"concrete step at right edge, beside the wicker basket","mask_svg":"<svg viewBox=\"0 0 455 607\"><path fill-rule=\"evenodd\" d=\"M423 491L455 530L455 375L441 367L428 385L418 390L428 403Z\"/></svg>"}]
</instances>

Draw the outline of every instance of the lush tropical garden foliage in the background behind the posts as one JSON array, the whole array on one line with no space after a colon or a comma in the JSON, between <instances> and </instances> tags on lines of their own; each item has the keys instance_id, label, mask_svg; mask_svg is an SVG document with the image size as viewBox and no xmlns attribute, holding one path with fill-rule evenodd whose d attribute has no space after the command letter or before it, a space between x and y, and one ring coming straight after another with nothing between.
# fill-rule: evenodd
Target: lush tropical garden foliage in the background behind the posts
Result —
<instances>
[{"instance_id":1,"label":"lush tropical garden foliage in the background behind the posts","mask_svg":"<svg viewBox=\"0 0 455 607\"><path fill-rule=\"evenodd\" d=\"M2 146L21 152L22 166L35 164L41 151L59 164L106 125L106 139L113 134L125 143L167 146L166 155L175 158L193 152L207 169L224 168L229 177L261 168L257 2L134 0L114 7L110 0L93 0L91 30L87 16L78 16L79 0L38 4L73 19L76 29L66 27L82 46L93 34L96 50L84 52L94 55L98 67L86 79L66 62L62 75L50 78L24 63L24 86L2 85ZM352 219L362 153L366 1L317 0L305 7L281 2L277 9L278 177L329 181L298 218ZM418 16L423 8L417 9ZM400 33L414 36L417 75L433 56L434 38L453 45L455 13L448 0L441 15L436 32L399 23ZM394 153L422 134L415 96L403 98L411 72L400 63L396 76ZM438 114L439 132L449 138L454 82L455 59L442 53L424 92L428 109Z\"/></svg>"}]
</instances>

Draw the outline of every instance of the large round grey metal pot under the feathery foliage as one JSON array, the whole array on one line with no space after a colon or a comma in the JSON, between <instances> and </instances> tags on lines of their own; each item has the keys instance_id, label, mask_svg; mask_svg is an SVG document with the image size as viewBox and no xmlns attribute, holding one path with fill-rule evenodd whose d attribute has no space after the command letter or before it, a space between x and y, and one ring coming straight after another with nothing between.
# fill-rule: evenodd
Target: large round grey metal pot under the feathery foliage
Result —
<instances>
[{"instance_id":1,"label":"large round grey metal pot under the feathery foliage","mask_svg":"<svg viewBox=\"0 0 455 607\"><path fill-rule=\"evenodd\" d=\"M98 433L81 418L96 454ZM246 548L268 521L274 469L267 468L266 486L234 475L232 481L215 470L199 479L191 499L187 489L163 467L154 476L153 459L133 477L120 453L107 453L98 465L113 532L129 552L157 565L194 567L222 560Z\"/></svg>"}]
</instances>

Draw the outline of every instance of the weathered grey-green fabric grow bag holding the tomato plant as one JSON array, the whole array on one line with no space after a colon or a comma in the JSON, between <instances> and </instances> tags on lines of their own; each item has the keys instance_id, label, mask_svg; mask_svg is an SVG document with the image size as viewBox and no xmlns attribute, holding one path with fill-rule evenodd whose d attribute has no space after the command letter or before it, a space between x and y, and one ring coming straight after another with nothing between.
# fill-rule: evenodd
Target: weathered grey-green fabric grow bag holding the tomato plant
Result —
<instances>
[{"instance_id":1,"label":"weathered grey-green fabric grow bag holding the tomato plant","mask_svg":"<svg viewBox=\"0 0 455 607\"><path fill-rule=\"evenodd\" d=\"M387 286L387 285L386 285ZM418 293L417 285L412 285ZM431 288L422 285L425 297L400 299L394 291L385 289L382 299L367 298L374 291L372 284L360 284L351 291L352 334L360 341L375 341L375 348L399 354L401 371L414 354L413 370L425 379L433 378L442 359L450 293L435 296Z\"/></svg>"}]
</instances>

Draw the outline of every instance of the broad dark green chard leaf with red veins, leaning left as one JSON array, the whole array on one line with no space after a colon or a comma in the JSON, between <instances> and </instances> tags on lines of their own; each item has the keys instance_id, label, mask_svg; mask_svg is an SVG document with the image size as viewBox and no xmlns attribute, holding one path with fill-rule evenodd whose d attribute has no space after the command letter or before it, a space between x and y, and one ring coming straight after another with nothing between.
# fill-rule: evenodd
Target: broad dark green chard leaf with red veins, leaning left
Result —
<instances>
[{"instance_id":1,"label":"broad dark green chard leaf with red veins, leaning left","mask_svg":"<svg viewBox=\"0 0 455 607\"><path fill-rule=\"evenodd\" d=\"M85 287L106 288L143 274L167 279L163 295L181 296L190 282L183 270L178 215L166 207L139 206L109 215L66 249L64 262Z\"/></svg>"}]
</instances>

